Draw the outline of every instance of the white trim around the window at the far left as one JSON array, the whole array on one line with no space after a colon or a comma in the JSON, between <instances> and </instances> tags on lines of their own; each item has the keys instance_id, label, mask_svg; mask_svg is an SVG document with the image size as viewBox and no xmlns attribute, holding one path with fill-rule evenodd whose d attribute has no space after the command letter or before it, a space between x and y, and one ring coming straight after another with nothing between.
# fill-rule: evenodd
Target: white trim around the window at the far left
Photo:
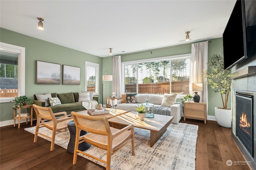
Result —
<instances>
[{"instance_id":1,"label":"white trim around the window at the far left","mask_svg":"<svg viewBox=\"0 0 256 170\"><path fill-rule=\"evenodd\" d=\"M0 51L18 54L18 96L25 95L25 48L0 42ZM6 103L13 98L0 98L0 103Z\"/></svg>"}]
</instances>

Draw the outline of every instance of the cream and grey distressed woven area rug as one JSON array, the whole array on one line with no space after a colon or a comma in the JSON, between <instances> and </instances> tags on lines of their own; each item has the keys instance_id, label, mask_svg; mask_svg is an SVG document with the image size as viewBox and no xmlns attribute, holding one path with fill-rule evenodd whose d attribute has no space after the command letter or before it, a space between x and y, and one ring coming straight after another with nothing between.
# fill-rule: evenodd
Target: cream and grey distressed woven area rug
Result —
<instances>
[{"instance_id":1,"label":"cream and grey distressed woven area rug","mask_svg":"<svg viewBox=\"0 0 256 170\"><path fill-rule=\"evenodd\" d=\"M25 128L25 130L34 134L35 127ZM40 132L46 135L52 134L45 127L40 128ZM110 168L112 170L194 170L197 132L198 125L171 123L162 137L153 147L150 147L150 131L134 128L135 155L131 154L131 145L126 145L111 157ZM38 136L46 139L41 135ZM69 131L59 133L56 135L55 144L67 149L69 139ZM50 139L47 140L50 141ZM104 150L91 146L86 152L106 160ZM102 162L80 155L106 167Z\"/></svg>"}]
</instances>

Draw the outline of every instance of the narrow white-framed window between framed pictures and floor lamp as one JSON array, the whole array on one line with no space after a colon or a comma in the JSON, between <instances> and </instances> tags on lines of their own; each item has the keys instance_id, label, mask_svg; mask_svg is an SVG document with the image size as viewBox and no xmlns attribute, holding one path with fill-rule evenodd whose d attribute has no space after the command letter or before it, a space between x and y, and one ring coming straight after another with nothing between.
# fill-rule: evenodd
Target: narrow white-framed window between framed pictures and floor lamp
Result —
<instances>
[{"instance_id":1,"label":"narrow white-framed window between framed pictures and floor lamp","mask_svg":"<svg viewBox=\"0 0 256 170\"><path fill-rule=\"evenodd\" d=\"M100 65L97 63L85 62L85 90L99 94L99 70Z\"/></svg>"}]
</instances>

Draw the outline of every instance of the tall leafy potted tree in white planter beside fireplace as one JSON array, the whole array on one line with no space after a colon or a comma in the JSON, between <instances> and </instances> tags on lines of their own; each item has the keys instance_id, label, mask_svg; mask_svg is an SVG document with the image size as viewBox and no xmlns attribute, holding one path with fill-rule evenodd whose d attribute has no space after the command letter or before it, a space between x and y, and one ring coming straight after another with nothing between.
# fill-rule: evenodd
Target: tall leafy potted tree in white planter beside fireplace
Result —
<instances>
[{"instance_id":1,"label":"tall leafy potted tree in white planter beside fireplace","mask_svg":"<svg viewBox=\"0 0 256 170\"><path fill-rule=\"evenodd\" d=\"M214 92L220 93L222 107L215 107L215 119L222 127L231 127L232 111L228 107L229 93L231 91L231 79L227 76L231 74L231 69L224 70L223 55L213 54L210 63L207 63L210 70L203 70L204 78Z\"/></svg>"}]
</instances>

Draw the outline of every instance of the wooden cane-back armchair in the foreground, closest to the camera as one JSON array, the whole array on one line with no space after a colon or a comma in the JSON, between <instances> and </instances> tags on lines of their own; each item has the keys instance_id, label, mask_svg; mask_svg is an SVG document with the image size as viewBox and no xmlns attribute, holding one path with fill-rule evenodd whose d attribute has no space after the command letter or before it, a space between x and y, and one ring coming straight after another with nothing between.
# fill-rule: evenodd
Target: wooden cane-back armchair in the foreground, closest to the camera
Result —
<instances>
[{"instance_id":1,"label":"wooden cane-back armchair in the foreground, closest to the camera","mask_svg":"<svg viewBox=\"0 0 256 170\"><path fill-rule=\"evenodd\" d=\"M128 125L123 129L110 127L107 117L82 115L71 112L76 124L76 142L74 148L73 164L76 164L77 154L82 153L106 164L106 170L110 170L111 156L122 147L131 142L132 155L134 155L134 126ZM86 135L80 137L80 131L87 131ZM82 141L80 141L82 140ZM87 142L94 147L107 151L106 160L102 160L83 150L78 150L78 145Z\"/></svg>"}]
</instances>

